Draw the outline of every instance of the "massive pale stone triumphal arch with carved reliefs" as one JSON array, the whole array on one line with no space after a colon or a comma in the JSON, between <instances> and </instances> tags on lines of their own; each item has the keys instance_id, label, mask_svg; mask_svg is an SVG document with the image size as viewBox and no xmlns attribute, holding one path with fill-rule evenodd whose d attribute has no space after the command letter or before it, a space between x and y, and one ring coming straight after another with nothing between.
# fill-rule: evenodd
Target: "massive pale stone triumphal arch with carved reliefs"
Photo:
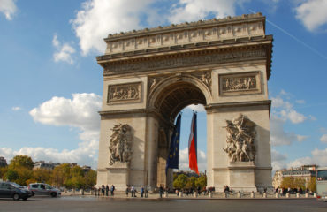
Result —
<instances>
[{"instance_id":1,"label":"massive pale stone triumphal arch with carved reliefs","mask_svg":"<svg viewBox=\"0 0 327 212\"><path fill-rule=\"evenodd\" d=\"M109 34L97 185L171 186L165 163L173 121L207 111L208 186L271 186L272 36L261 13Z\"/></svg>"}]
</instances>

